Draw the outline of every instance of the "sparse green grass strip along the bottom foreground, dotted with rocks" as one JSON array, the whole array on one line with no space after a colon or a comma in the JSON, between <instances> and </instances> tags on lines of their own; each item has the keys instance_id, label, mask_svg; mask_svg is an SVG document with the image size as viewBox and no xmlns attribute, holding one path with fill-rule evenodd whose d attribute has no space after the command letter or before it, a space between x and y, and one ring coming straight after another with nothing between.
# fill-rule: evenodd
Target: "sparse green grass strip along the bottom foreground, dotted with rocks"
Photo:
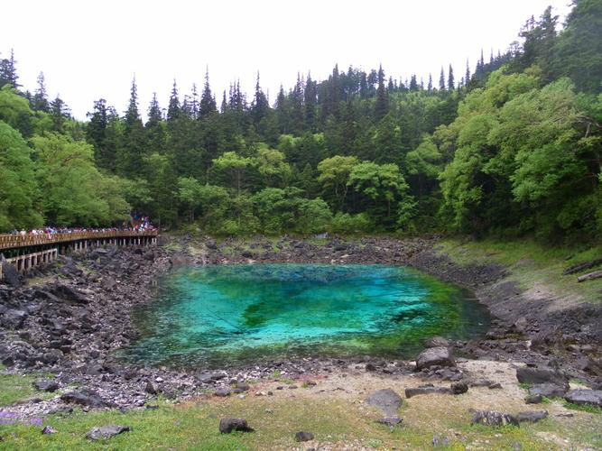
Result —
<instances>
[{"instance_id":1,"label":"sparse green grass strip along the bottom foreground, dotted with rocks","mask_svg":"<svg viewBox=\"0 0 602 451\"><path fill-rule=\"evenodd\" d=\"M448 438L441 449L508 449L520 444L523 449L560 449L561 439L570 440L578 448L602 446L598 430L600 422L560 424L546 419L520 428L487 428L470 426L468 412L449 412L445 423L430 418L411 419L401 428L375 423L381 417L375 410L360 409L346 400L300 400L257 398L238 400L201 400L187 404L159 403L157 410L116 410L84 413L76 411L68 417L50 416L44 425L57 430L42 435L40 427L0 426L3 449L291 449L299 446L294 434L312 432L316 440L310 446L350 448L428 449L434 436ZM410 415L412 406L402 411ZM580 414L588 415L588 414ZM247 419L255 432L222 435L219 419ZM133 430L111 438L106 443L90 442L90 428L117 424ZM553 436L550 441L546 436Z\"/></svg>"}]
</instances>

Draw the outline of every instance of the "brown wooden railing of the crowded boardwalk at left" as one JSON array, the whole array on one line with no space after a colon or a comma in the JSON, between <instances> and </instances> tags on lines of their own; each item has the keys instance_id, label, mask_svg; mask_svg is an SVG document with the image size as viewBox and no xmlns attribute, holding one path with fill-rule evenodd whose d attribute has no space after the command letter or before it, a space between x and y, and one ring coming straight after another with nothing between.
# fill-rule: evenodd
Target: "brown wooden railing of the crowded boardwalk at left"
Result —
<instances>
[{"instance_id":1,"label":"brown wooden railing of the crowded boardwalk at left","mask_svg":"<svg viewBox=\"0 0 602 451\"><path fill-rule=\"evenodd\" d=\"M70 234L42 235L0 235L0 250L16 249L19 247L39 246L45 244L68 243L69 241L104 240L111 238L156 237L156 230L144 232L110 231L110 232L73 232Z\"/></svg>"}]
</instances>

